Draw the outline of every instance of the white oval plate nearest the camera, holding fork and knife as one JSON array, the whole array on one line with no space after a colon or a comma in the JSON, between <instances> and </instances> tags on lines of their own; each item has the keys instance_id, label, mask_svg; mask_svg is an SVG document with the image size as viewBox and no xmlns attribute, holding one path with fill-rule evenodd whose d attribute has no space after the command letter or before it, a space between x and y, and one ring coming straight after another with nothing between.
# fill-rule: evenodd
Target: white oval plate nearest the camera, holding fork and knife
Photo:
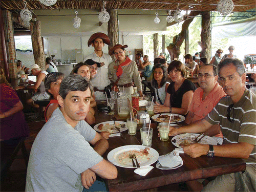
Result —
<instances>
[{"instance_id":1,"label":"white oval plate nearest the camera, holding fork and knife","mask_svg":"<svg viewBox=\"0 0 256 192\"><path fill-rule=\"evenodd\" d=\"M150 159L146 159L144 162L140 162L140 160L137 157L138 163L140 164L140 166L146 166L146 165L151 165L153 163L155 163L158 160L159 154L156 150L154 150L154 148L149 147L150 150L148 151L149 154L151 154L153 157ZM132 163L132 159L129 159L131 164L122 164L121 162L117 161L117 156L123 152L127 152L127 151L131 151L131 150L144 150L145 146L143 145L124 145L124 146L120 146L115 148L114 150L112 150L109 154L108 154L108 160L113 163L116 166L119 167L125 167L125 168L136 168L133 167L133 163Z\"/></svg>"}]
</instances>

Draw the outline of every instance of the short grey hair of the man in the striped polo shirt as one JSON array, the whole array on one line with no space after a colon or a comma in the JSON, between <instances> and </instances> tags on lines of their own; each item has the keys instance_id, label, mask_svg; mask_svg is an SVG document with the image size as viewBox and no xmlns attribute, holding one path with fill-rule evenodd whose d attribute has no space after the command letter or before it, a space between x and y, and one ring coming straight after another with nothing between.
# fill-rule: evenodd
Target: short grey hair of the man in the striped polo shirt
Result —
<instances>
[{"instance_id":1,"label":"short grey hair of the man in the striped polo shirt","mask_svg":"<svg viewBox=\"0 0 256 192\"><path fill-rule=\"evenodd\" d=\"M221 68L225 66L229 66L232 64L234 67L236 67L238 74L240 77L245 73L245 67L244 64L241 60L239 59L231 59L231 58L226 58L222 60L219 65L218 65L218 74L220 75L220 70Z\"/></svg>"}]
</instances>

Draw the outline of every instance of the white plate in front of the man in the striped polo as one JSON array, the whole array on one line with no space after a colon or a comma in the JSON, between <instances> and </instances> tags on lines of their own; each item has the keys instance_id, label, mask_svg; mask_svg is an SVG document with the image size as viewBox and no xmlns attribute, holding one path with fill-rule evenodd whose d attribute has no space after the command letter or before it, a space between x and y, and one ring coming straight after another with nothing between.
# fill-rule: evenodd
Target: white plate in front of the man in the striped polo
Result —
<instances>
[{"instance_id":1,"label":"white plate in front of the man in the striped polo","mask_svg":"<svg viewBox=\"0 0 256 192\"><path fill-rule=\"evenodd\" d=\"M180 134L180 135L176 135L172 138L172 143L179 147L182 148L180 146L180 143L183 142L185 139L195 139L199 134L198 133L184 133L184 134ZM174 142L175 140L175 142ZM199 141L199 143L202 144L211 144L211 145L217 145L217 141L209 136L205 136L201 141Z\"/></svg>"}]
</instances>

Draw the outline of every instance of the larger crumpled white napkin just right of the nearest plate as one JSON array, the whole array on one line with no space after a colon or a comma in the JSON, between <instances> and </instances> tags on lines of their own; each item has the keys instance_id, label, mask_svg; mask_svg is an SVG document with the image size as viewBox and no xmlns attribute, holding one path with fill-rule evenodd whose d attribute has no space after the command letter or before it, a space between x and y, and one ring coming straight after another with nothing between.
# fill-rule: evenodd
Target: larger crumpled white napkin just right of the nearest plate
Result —
<instances>
[{"instance_id":1,"label":"larger crumpled white napkin just right of the nearest plate","mask_svg":"<svg viewBox=\"0 0 256 192\"><path fill-rule=\"evenodd\" d=\"M179 156L179 152L176 150L167 155L159 156L158 162L160 163L160 165L169 168L183 165L183 160Z\"/></svg>"}]
</instances>

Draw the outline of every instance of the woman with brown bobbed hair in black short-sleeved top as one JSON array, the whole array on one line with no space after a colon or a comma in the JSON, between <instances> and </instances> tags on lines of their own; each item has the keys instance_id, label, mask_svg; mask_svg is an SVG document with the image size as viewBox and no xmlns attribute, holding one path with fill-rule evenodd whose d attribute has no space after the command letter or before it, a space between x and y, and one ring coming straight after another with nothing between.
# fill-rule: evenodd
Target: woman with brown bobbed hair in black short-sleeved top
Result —
<instances>
[{"instance_id":1,"label":"woman with brown bobbed hair in black short-sleeved top","mask_svg":"<svg viewBox=\"0 0 256 192\"><path fill-rule=\"evenodd\" d=\"M154 106L155 113L187 114L196 86L193 82L184 78L185 72L186 70L182 62L174 60L170 63L168 74L172 82L167 89L164 104Z\"/></svg>"}]
</instances>

